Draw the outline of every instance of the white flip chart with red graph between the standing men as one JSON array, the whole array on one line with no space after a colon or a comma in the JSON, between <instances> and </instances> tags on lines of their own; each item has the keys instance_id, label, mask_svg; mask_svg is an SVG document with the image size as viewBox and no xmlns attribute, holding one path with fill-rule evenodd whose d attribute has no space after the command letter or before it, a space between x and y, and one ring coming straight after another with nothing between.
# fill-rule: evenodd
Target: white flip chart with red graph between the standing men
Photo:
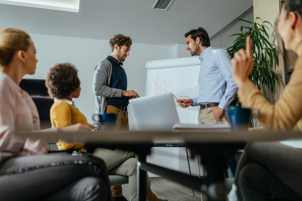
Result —
<instances>
[{"instance_id":1,"label":"white flip chart with red graph between the standing men","mask_svg":"<svg viewBox=\"0 0 302 201\"><path fill-rule=\"evenodd\" d=\"M147 61L146 96L173 93L178 99L197 97L200 64L198 57ZM198 106L181 108L176 99L175 106L180 123L198 124Z\"/></svg>"}]
</instances>

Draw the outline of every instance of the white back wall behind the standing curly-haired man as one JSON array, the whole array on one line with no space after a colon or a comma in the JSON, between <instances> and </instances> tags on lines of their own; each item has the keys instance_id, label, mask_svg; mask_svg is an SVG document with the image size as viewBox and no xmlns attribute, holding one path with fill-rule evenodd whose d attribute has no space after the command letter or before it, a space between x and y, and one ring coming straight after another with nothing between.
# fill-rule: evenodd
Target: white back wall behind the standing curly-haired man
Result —
<instances>
[{"instance_id":1,"label":"white back wall behind the standing curly-haired man","mask_svg":"<svg viewBox=\"0 0 302 201\"><path fill-rule=\"evenodd\" d=\"M92 122L95 112L95 96L92 91L93 71L95 65L111 54L108 41L83 39L64 36L30 34L37 49L36 74L25 78L45 79L48 69L57 62L71 62L79 69L81 80L81 95L74 99L76 106ZM149 60L175 58L172 46L148 45L133 43L130 56L125 60L128 80L128 90L135 90L140 96L145 96L146 68ZM135 129L131 106L129 107L130 130Z\"/></svg>"}]
</instances>

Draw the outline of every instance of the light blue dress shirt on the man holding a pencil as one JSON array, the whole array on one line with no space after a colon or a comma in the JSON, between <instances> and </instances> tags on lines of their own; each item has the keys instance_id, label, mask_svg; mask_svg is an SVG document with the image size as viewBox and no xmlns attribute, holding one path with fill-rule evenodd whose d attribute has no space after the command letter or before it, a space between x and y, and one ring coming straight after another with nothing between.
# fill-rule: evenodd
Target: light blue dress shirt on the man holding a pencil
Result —
<instances>
[{"instance_id":1,"label":"light blue dress shirt on the man holding a pencil","mask_svg":"<svg viewBox=\"0 0 302 201\"><path fill-rule=\"evenodd\" d=\"M213 49L210 46L201 53L199 59L199 93L198 97L192 98L192 106L219 102L218 107L226 110L237 91L229 54L223 49Z\"/></svg>"}]
</instances>

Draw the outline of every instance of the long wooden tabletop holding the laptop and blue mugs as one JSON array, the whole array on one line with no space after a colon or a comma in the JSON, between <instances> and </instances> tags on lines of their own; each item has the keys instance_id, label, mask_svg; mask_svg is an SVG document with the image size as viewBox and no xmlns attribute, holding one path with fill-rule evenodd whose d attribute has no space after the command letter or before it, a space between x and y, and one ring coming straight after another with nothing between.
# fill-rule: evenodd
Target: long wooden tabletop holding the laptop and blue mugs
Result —
<instances>
[{"instance_id":1,"label":"long wooden tabletop holding the laptop and blue mugs","mask_svg":"<svg viewBox=\"0 0 302 201\"><path fill-rule=\"evenodd\" d=\"M69 143L239 143L302 139L302 133L291 131L170 131L170 132L29 132L16 133L21 137L43 139L47 142L65 140Z\"/></svg>"}]
</instances>

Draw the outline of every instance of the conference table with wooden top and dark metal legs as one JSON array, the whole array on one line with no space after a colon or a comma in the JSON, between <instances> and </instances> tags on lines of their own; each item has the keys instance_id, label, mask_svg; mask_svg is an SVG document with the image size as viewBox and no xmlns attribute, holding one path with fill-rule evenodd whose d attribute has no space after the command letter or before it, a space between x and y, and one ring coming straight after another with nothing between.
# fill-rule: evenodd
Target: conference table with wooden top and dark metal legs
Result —
<instances>
[{"instance_id":1,"label":"conference table with wooden top and dark metal legs","mask_svg":"<svg viewBox=\"0 0 302 201\"><path fill-rule=\"evenodd\" d=\"M65 140L69 143L85 143L86 149L93 152L95 148L124 149L137 153L137 191L138 200L146 201L147 171L175 181L179 184L204 192L208 200L226 200L224 171L228 159L242 143L260 141L301 140L302 133L291 131L257 131L247 130L178 130L156 132L116 132L106 130L100 132L78 133L17 133L20 137L43 139L47 142ZM154 143L184 143L191 155L200 155L201 164L207 170L206 178L198 178L158 165L146 162Z\"/></svg>"}]
</instances>

